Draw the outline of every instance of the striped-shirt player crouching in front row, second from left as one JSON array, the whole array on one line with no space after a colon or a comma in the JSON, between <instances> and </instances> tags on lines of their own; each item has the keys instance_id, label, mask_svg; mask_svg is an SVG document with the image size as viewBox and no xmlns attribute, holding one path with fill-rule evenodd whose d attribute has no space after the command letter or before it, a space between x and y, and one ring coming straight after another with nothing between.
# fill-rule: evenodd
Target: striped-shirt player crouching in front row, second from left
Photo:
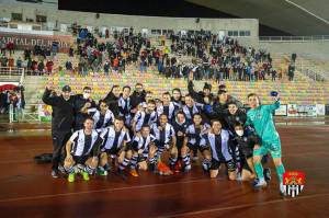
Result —
<instances>
[{"instance_id":1,"label":"striped-shirt player crouching in front row, second from left","mask_svg":"<svg viewBox=\"0 0 329 218\"><path fill-rule=\"evenodd\" d=\"M131 137L128 130L124 128L124 121L122 117L114 119L114 125L104 128L101 134L103 145L101 147L99 174L106 175L110 170L109 158L117 158L117 172L124 175L124 169L129 164L132 158L132 150L128 146Z\"/></svg>"}]
</instances>

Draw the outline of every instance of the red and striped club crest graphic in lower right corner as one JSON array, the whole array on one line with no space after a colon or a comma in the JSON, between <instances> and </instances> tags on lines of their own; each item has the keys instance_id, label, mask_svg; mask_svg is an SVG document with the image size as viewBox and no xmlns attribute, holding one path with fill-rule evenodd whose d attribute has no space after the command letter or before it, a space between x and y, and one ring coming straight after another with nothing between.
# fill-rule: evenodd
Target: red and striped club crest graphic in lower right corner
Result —
<instances>
[{"instance_id":1,"label":"red and striped club crest graphic in lower right corner","mask_svg":"<svg viewBox=\"0 0 329 218\"><path fill-rule=\"evenodd\" d=\"M286 195L296 197L305 186L305 173L300 171L290 171L283 174L283 186Z\"/></svg>"}]
</instances>

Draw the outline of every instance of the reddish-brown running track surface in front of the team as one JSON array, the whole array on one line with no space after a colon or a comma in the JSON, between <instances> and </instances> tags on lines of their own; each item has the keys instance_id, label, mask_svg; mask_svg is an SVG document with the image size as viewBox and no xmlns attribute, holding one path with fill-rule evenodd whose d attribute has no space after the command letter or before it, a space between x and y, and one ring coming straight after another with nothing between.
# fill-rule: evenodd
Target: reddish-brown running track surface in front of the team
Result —
<instances>
[{"instance_id":1,"label":"reddish-brown running track surface in front of the team","mask_svg":"<svg viewBox=\"0 0 329 218\"><path fill-rule=\"evenodd\" d=\"M52 150L45 133L2 135L1 217L329 217L329 126L280 126L279 133L286 170L306 173L295 198L279 195L272 162L272 181L259 192L227 181L223 170L211 180L198 164L173 176L110 174L69 184L53 179L49 164L33 162Z\"/></svg>"}]
</instances>

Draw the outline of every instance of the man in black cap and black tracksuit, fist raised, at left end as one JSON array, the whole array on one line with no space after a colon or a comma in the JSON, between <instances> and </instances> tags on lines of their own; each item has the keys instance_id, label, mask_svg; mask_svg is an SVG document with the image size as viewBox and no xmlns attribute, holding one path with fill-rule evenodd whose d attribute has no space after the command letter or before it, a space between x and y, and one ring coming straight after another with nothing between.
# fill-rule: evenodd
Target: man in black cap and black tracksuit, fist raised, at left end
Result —
<instances>
[{"instance_id":1,"label":"man in black cap and black tracksuit, fist raised, at left end","mask_svg":"<svg viewBox=\"0 0 329 218\"><path fill-rule=\"evenodd\" d=\"M53 107L53 119L52 119L52 137L53 137L53 167L52 175L53 177L58 177L58 165L60 162L61 150L69 139L72 133L73 126L73 102L75 96L71 96L71 88L65 85L63 88L63 94L60 96L56 95L54 89L47 87L44 95L43 102Z\"/></svg>"}]
</instances>

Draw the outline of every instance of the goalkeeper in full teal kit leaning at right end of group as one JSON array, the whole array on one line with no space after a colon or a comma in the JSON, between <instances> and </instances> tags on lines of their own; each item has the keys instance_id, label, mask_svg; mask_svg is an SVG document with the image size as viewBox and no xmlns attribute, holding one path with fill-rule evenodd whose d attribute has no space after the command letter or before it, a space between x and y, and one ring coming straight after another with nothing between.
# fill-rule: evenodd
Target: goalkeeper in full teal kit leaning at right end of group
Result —
<instances>
[{"instance_id":1,"label":"goalkeeper in full teal kit leaning at right end of group","mask_svg":"<svg viewBox=\"0 0 329 218\"><path fill-rule=\"evenodd\" d=\"M257 94L249 94L248 103L250 110L247 113L246 125L252 125L262 140L262 146L256 146L253 150L253 165L258 177L254 187L266 186L261 159L262 156L270 152L279 176L280 193L284 194L283 173L285 170L281 159L281 141L272 117L272 113L280 107L280 95L273 96L273 101L274 103L271 105L261 105Z\"/></svg>"}]
</instances>

